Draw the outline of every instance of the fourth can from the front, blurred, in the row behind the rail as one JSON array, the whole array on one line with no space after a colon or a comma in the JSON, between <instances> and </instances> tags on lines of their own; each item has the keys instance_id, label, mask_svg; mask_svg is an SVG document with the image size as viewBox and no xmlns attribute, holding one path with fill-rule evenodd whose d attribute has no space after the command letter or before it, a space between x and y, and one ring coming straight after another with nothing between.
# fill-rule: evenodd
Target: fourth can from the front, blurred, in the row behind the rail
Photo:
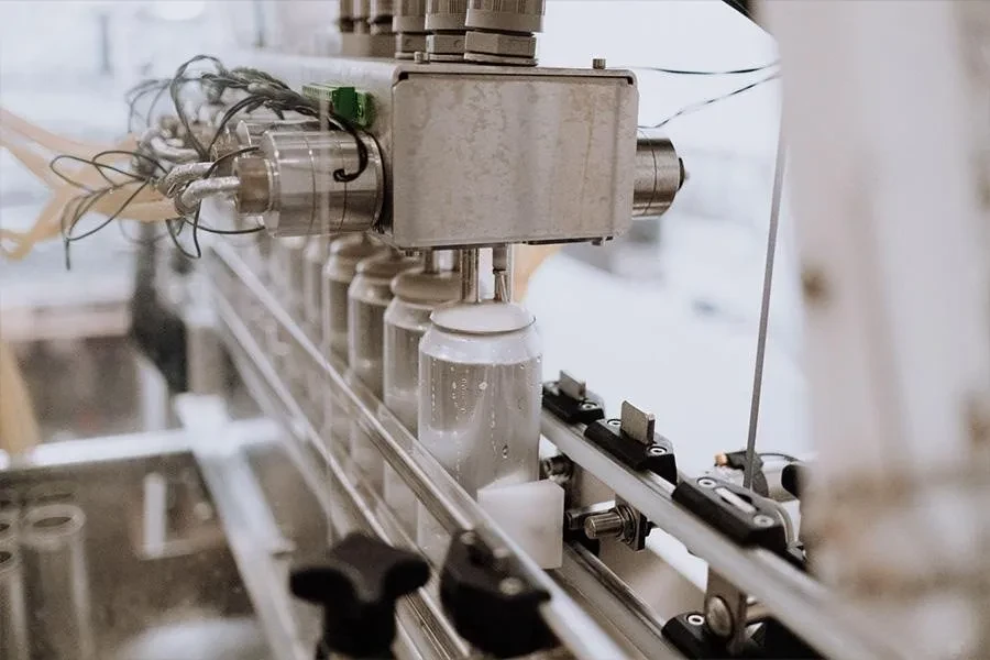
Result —
<instances>
[{"instance_id":1,"label":"fourth can from the front, blurred, in the row behind the rail","mask_svg":"<svg viewBox=\"0 0 990 660\"><path fill-rule=\"evenodd\" d=\"M329 256L322 274L322 338L320 348L328 359L348 360L348 289L358 272L358 264L369 256L381 254L385 248L367 234L351 234L330 242ZM316 416L326 441L337 439L331 447L346 444L350 425L342 414L334 414L333 388L324 387L323 405Z\"/></svg>"}]
</instances>

